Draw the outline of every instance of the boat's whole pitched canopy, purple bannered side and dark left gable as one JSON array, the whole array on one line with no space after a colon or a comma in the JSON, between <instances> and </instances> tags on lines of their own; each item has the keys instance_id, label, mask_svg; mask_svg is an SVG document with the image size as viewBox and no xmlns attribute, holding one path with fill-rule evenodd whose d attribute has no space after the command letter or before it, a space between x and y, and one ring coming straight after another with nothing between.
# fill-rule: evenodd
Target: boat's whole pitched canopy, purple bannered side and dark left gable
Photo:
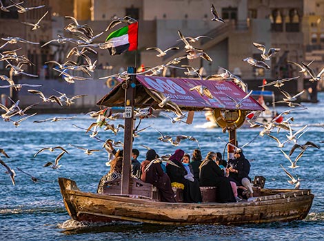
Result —
<instances>
[{"instance_id":1,"label":"boat's whole pitched canopy, purple bannered side and dark left gable","mask_svg":"<svg viewBox=\"0 0 324 241\"><path fill-rule=\"evenodd\" d=\"M107 107L125 106L125 88L129 81L121 81L118 85L98 101L97 105ZM196 90L190 90L197 85L207 87L213 98L199 94ZM212 81L194 78L169 78L161 76L136 75L135 80L134 107L159 107L163 98L170 98L170 101L180 107L181 110L201 111L210 109L237 109L236 103L246 95L240 87L232 81ZM231 98L230 98L230 97ZM163 109L172 109L165 105ZM241 103L240 109L247 111L264 111L265 109L254 98L249 96Z\"/></svg>"}]
</instances>

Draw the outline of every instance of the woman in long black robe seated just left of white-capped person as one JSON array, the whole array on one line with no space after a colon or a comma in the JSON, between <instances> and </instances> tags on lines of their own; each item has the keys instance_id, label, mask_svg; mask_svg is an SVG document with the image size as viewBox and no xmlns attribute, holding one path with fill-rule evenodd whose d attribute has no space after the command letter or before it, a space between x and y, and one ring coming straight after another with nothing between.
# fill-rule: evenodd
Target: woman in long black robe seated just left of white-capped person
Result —
<instances>
[{"instance_id":1,"label":"woman in long black robe seated just left of white-capped person","mask_svg":"<svg viewBox=\"0 0 324 241\"><path fill-rule=\"evenodd\" d=\"M230 179L216 164L215 152L208 152L199 169L201 187L216 187L216 202L236 202Z\"/></svg>"}]
</instances>

